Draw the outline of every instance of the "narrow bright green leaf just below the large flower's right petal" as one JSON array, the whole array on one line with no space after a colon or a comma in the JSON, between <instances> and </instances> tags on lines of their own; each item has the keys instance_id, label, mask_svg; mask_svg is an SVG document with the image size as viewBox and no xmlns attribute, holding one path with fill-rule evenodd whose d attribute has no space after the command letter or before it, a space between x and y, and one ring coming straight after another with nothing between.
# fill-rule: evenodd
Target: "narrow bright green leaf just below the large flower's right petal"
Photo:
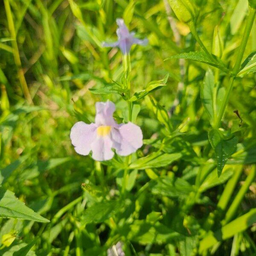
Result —
<instances>
[{"instance_id":1,"label":"narrow bright green leaf just below the large flower's right petal","mask_svg":"<svg viewBox=\"0 0 256 256\"><path fill-rule=\"evenodd\" d=\"M141 157L137 159L136 161L134 161L134 163L131 163L129 167L130 169L139 170L158 168L162 166L167 166L175 160L178 160L180 157L182 157L181 153L163 154L162 152L154 152L146 157Z\"/></svg>"}]
</instances>

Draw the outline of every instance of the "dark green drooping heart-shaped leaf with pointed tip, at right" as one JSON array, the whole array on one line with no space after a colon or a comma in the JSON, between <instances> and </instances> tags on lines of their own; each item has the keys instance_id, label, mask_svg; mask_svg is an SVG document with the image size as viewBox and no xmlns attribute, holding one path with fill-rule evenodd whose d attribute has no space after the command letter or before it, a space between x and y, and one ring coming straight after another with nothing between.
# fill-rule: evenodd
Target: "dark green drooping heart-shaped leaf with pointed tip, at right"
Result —
<instances>
[{"instance_id":1,"label":"dark green drooping heart-shaped leaf with pointed tip, at right","mask_svg":"<svg viewBox=\"0 0 256 256\"><path fill-rule=\"evenodd\" d=\"M216 129L209 131L208 137L215 153L219 177L227 159L236 151L238 138L225 139L221 131Z\"/></svg>"}]
</instances>

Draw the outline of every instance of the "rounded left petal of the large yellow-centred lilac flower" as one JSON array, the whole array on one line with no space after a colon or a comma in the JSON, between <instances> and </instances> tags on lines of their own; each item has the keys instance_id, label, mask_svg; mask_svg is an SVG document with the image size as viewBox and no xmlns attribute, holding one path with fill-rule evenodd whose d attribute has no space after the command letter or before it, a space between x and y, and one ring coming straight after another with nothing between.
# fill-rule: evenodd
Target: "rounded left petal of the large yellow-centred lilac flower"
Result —
<instances>
[{"instance_id":1,"label":"rounded left petal of the large yellow-centred lilac flower","mask_svg":"<svg viewBox=\"0 0 256 256\"><path fill-rule=\"evenodd\" d=\"M77 122L70 131L70 139L78 154L86 156L91 151L91 143L96 139L97 125Z\"/></svg>"}]
</instances>

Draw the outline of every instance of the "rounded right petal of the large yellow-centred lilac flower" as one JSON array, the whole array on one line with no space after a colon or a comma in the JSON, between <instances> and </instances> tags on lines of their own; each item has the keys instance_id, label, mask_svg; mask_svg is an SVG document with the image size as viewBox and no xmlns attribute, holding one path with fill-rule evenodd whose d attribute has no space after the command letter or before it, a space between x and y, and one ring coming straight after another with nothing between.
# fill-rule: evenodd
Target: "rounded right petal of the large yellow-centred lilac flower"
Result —
<instances>
[{"instance_id":1,"label":"rounded right petal of the large yellow-centred lilac flower","mask_svg":"<svg viewBox=\"0 0 256 256\"><path fill-rule=\"evenodd\" d=\"M119 127L119 132L122 136L120 148L116 148L116 153L121 156L127 156L134 153L138 148L143 145L143 134L138 125L128 122Z\"/></svg>"}]
</instances>

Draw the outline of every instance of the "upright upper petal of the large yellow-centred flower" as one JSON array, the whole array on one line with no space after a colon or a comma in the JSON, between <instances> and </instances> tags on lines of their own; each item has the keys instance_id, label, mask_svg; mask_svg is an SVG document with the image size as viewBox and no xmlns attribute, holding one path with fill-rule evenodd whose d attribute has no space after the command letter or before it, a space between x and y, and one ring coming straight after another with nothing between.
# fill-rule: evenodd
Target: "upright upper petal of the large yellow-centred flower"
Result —
<instances>
[{"instance_id":1,"label":"upright upper petal of the large yellow-centred flower","mask_svg":"<svg viewBox=\"0 0 256 256\"><path fill-rule=\"evenodd\" d=\"M117 124L113 119L113 113L116 110L116 106L113 102L96 102L96 125L108 125L115 127Z\"/></svg>"}]
</instances>

